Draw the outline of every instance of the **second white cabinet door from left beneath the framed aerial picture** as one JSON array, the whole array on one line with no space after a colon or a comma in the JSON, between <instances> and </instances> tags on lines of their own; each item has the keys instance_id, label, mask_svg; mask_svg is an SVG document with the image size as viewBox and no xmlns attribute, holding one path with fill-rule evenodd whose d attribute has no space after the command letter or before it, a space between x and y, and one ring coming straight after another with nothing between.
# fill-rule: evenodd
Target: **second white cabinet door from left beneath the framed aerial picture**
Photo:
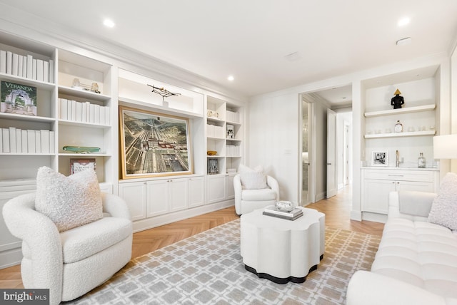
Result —
<instances>
[{"instance_id":1,"label":"second white cabinet door from left beneath the framed aerial picture","mask_svg":"<svg viewBox=\"0 0 457 305\"><path fill-rule=\"evenodd\" d=\"M146 185L146 216L153 217L168 212L168 180L148 181Z\"/></svg>"}]
</instances>

